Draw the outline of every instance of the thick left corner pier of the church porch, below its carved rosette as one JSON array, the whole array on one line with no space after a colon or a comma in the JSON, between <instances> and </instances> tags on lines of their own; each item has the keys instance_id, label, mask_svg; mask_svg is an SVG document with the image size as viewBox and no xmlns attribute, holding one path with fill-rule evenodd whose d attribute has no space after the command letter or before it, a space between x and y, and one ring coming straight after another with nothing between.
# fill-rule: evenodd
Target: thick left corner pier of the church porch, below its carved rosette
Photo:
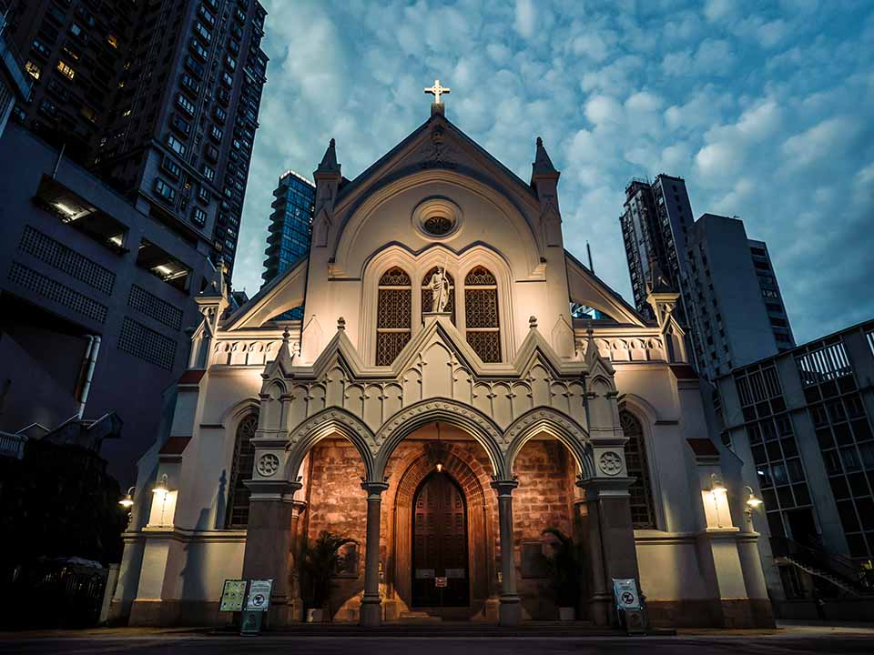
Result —
<instances>
[{"instance_id":1,"label":"thick left corner pier of the church porch, below its carved rosette","mask_svg":"<svg viewBox=\"0 0 874 655\"><path fill-rule=\"evenodd\" d=\"M289 603L289 567L294 492L300 482L249 480L249 525L243 578L272 579L269 624L288 625L293 617Z\"/></svg>"}]
</instances>

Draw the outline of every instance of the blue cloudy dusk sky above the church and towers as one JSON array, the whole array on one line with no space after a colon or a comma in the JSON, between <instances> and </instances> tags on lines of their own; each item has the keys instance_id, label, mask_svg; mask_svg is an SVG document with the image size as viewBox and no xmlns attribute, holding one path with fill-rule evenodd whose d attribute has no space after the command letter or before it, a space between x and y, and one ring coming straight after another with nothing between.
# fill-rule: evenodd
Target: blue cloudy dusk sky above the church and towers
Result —
<instances>
[{"instance_id":1,"label":"blue cloudy dusk sky above the church and towers","mask_svg":"<svg viewBox=\"0 0 874 655\"><path fill-rule=\"evenodd\" d=\"M874 2L261 0L270 57L234 286L258 290L271 192L330 137L357 176L429 115L528 180L562 170L565 245L631 297L631 176L765 239L798 342L874 317Z\"/></svg>"}]
</instances>

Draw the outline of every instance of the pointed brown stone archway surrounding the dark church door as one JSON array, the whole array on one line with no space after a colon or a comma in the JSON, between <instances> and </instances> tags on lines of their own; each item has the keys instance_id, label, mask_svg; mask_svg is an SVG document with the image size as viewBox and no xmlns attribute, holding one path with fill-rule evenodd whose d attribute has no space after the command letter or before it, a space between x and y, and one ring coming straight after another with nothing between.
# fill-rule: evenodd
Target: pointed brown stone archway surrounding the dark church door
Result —
<instances>
[{"instance_id":1,"label":"pointed brown stone archway surrounding the dark church door","mask_svg":"<svg viewBox=\"0 0 874 655\"><path fill-rule=\"evenodd\" d=\"M395 464L395 462L392 462ZM398 461L392 469L400 475L397 489L391 497L393 518L387 577L388 596L393 597L398 610L412 607L412 525L413 501L416 490L434 471L428 454L419 454ZM442 472L452 477L466 499L469 598L468 609L455 610L456 618L485 617L489 614L489 599L495 599L497 589L494 570L496 536L496 498L489 486L490 474L483 462L472 457L466 448L447 445L443 451ZM492 603L494 604L494 602ZM391 600L387 602L387 607Z\"/></svg>"}]
</instances>

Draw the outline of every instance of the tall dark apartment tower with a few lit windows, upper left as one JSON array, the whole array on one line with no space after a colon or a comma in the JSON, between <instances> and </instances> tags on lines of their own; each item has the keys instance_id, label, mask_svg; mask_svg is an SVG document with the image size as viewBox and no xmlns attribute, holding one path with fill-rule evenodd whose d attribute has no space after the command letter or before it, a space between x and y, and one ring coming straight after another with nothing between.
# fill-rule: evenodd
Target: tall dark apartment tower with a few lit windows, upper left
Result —
<instances>
[{"instance_id":1,"label":"tall dark apartment tower with a few lit windows, upper left","mask_svg":"<svg viewBox=\"0 0 874 655\"><path fill-rule=\"evenodd\" d=\"M214 263L232 267L258 128L254 0L17 0L35 94L15 116Z\"/></svg>"}]
</instances>

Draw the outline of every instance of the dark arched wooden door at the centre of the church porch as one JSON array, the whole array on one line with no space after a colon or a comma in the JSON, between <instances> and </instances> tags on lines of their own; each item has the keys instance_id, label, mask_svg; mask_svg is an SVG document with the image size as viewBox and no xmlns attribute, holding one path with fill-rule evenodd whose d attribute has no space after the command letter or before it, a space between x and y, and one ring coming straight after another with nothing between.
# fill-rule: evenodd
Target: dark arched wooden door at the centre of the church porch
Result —
<instances>
[{"instance_id":1,"label":"dark arched wooden door at the centre of the church porch","mask_svg":"<svg viewBox=\"0 0 874 655\"><path fill-rule=\"evenodd\" d=\"M445 471L422 480L412 512L413 607L467 607L470 566L467 502Z\"/></svg>"}]
</instances>

